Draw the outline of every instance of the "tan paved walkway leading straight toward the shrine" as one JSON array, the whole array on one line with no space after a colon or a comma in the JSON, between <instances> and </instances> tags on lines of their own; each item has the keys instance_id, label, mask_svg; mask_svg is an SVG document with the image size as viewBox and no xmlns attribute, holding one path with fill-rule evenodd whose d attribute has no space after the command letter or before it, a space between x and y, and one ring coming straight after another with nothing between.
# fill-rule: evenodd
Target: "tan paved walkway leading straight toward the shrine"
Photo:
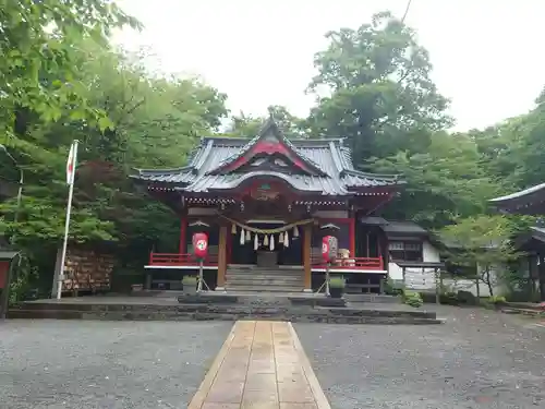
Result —
<instances>
[{"instance_id":1,"label":"tan paved walkway leading straight toward the shrine","mask_svg":"<svg viewBox=\"0 0 545 409\"><path fill-rule=\"evenodd\" d=\"M290 323L239 321L189 409L330 409Z\"/></svg>"}]
</instances>

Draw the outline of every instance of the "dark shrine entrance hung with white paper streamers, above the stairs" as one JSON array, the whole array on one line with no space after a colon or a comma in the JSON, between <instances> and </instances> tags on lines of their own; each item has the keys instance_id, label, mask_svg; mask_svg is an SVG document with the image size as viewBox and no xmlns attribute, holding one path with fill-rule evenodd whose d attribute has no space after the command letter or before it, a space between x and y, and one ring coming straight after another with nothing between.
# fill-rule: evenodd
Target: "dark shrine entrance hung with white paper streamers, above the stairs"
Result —
<instances>
[{"instance_id":1,"label":"dark shrine entrance hung with white paper streamers, above the stairs","mask_svg":"<svg viewBox=\"0 0 545 409\"><path fill-rule=\"evenodd\" d=\"M250 220L251 228L266 230L284 226L282 221ZM235 229L231 231L231 264L279 266L303 265L302 240L299 239L299 228L276 234L261 234ZM284 234L288 234L286 237ZM290 238L290 236L292 236Z\"/></svg>"}]
</instances>

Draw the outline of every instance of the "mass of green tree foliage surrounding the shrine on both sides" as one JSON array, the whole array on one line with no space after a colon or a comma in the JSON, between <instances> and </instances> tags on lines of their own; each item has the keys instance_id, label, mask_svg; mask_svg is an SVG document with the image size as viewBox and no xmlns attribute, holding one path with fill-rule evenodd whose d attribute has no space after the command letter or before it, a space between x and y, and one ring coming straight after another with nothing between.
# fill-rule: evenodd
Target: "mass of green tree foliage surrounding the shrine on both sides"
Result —
<instances>
[{"instance_id":1,"label":"mass of green tree foliage surrounding the shrine on both sides","mask_svg":"<svg viewBox=\"0 0 545 409\"><path fill-rule=\"evenodd\" d=\"M177 243L179 220L134 190L131 169L182 166L201 136L221 130L252 137L263 118L230 115L228 96L198 79L149 73L145 50L113 48L113 28L140 24L110 1L0 5L0 143L25 172L22 207L0 203L0 234L38 269L51 269L64 224L65 160L77 139L71 240L112 242L140 268L148 250ZM485 220L488 199L543 182L545 94L538 89L530 113L452 133L448 98L432 81L431 56L413 29L379 13L326 38L310 79L316 104L308 116L282 106L269 107L269 115L288 137L346 137L358 167L401 173L407 188L385 209L388 217L433 229L462 224L460 231L469 231L463 220ZM17 175L2 157L0 181Z\"/></svg>"}]
</instances>

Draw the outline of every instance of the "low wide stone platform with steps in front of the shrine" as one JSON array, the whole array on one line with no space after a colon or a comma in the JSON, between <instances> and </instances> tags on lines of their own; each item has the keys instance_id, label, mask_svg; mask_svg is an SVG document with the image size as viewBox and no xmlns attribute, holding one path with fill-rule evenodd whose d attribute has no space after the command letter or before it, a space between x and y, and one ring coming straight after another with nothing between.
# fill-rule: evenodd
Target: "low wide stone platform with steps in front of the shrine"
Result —
<instances>
[{"instance_id":1,"label":"low wide stone platform with steps in front of the shrine","mask_svg":"<svg viewBox=\"0 0 545 409\"><path fill-rule=\"evenodd\" d=\"M337 303L337 306L336 306ZM358 304L313 294L199 294L165 297L80 297L28 301L10 318L110 321L271 320L337 324L440 324L435 312L403 304Z\"/></svg>"}]
</instances>

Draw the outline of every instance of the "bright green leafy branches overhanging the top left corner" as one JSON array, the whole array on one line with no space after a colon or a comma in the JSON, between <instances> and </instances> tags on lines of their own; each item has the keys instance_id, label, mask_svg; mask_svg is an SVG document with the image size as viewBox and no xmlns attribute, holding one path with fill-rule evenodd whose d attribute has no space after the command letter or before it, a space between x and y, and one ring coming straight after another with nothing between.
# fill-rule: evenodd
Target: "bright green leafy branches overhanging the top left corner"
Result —
<instances>
[{"instance_id":1,"label":"bright green leafy branches overhanging the top left corner","mask_svg":"<svg viewBox=\"0 0 545 409\"><path fill-rule=\"evenodd\" d=\"M137 22L106 0L0 0L0 123L7 135L24 133L26 117L104 117L82 98L75 80L75 45L94 38L104 45L113 28ZM11 141L4 141L4 144Z\"/></svg>"}]
</instances>

